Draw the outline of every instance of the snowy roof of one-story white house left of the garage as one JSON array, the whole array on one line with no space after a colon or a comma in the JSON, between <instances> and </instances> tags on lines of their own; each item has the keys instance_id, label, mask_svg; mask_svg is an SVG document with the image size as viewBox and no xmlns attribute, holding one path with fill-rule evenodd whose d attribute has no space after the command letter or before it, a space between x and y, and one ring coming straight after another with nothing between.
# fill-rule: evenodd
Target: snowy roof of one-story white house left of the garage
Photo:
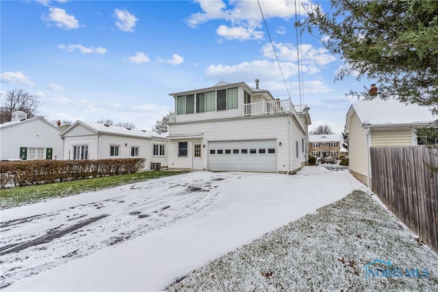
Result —
<instances>
[{"instance_id":1,"label":"snowy roof of one-story white house left of the garage","mask_svg":"<svg viewBox=\"0 0 438 292\"><path fill-rule=\"evenodd\" d=\"M83 121L76 121L68 127L64 132L61 133L61 136L64 136L68 131L76 127L77 125L83 125L93 132L97 133L105 133L105 134L115 134L122 136L133 136L133 137L142 137L142 138L161 138L166 139L167 133L159 134L157 132L148 131L148 130L136 130L129 129L127 127L118 127L116 125L105 125L103 123L88 123Z\"/></svg>"}]
</instances>

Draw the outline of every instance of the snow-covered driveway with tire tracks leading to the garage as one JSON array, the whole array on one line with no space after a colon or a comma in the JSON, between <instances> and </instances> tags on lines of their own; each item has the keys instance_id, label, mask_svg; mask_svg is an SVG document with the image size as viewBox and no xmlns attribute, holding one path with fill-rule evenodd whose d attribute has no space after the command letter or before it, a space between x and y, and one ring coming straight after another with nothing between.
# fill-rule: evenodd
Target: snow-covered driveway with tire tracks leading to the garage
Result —
<instances>
[{"instance_id":1,"label":"snow-covered driveway with tire tracks leading to the garage","mask_svg":"<svg viewBox=\"0 0 438 292\"><path fill-rule=\"evenodd\" d=\"M157 291L366 189L348 171L194 172L1 212L4 291Z\"/></svg>"}]
</instances>

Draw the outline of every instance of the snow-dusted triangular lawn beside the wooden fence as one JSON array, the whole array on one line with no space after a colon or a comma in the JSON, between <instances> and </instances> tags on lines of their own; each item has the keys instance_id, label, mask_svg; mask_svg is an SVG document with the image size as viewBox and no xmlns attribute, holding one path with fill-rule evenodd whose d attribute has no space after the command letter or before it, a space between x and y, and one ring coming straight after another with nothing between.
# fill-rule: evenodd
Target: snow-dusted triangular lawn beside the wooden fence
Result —
<instances>
[{"instance_id":1,"label":"snow-dusted triangular lawn beside the wooden fence","mask_svg":"<svg viewBox=\"0 0 438 292\"><path fill-rule=\"evenodd\" d=\"M365 278L391 260L428 277ZM354 191L175 280L168 291L437 291L438 256L370 195ZM387 266L377 264L376 269Z\"/></svg>"}]
</instances>

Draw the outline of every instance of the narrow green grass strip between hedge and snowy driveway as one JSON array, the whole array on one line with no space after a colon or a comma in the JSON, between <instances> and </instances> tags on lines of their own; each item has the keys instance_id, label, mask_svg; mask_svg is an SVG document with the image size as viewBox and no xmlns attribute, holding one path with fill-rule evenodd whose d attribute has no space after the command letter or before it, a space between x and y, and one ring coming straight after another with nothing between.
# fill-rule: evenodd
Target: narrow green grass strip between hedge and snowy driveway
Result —
<instances>
[{"instance_id":1,"label":"narrow green grass strip between hedge and snowy driveway","mask_svg":"<svg viewBox=\"0 0 438 292\"><path fill-rule=\"evenodd\" d=\"M124 175L90 178L89 180L74 180L57 182L55 184L38 184L0 190L0 210L44 201L54 197L66 197L88 191L98 191L123 184L132 184L154 178L178 175L183 171L143 171Z\"/></svg>"}]
</instances>

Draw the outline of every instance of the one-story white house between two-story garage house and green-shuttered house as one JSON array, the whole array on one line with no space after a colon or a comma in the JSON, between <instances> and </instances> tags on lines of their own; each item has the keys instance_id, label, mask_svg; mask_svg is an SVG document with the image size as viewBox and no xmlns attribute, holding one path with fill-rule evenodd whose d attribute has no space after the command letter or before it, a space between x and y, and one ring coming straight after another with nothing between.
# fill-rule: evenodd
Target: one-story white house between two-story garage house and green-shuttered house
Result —
<instances>
[{"instance_id":1,"label":"one-story white house between two-story garage house and green-shuttered house","mask_svg":"<svg viewBox=\"0 0 438 292\"><path fill-rule=\"evenodd\" d=\"M65 160L145 158L144 169L151 169L151 163L168 165L166 134L76 121L60 135Z\"/></svg>"}]
</instances>

